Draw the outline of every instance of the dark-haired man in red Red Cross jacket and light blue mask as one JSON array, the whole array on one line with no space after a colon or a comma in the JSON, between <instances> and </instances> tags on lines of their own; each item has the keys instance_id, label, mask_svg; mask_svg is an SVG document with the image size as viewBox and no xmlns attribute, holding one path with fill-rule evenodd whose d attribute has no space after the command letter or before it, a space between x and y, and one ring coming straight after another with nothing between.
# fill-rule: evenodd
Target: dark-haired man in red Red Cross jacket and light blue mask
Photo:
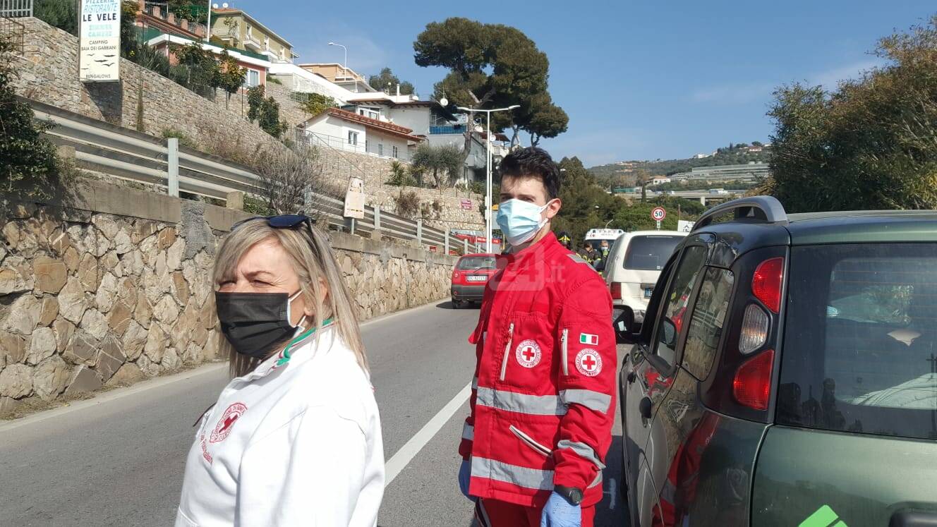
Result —
<instances>
[{"instance_id":1,"label":"dark-haired man in red Red Cross jacket and light blue mask","mask_svg":"<svg viewBox=\"0 0 937 527\"><path fill-rule=\"evenodd\" d=\"M477 365L459 485L485 526L590 526L615 416L612 299L550 231L562 203L549 154L516 150L498 170L511 249L469 338Z\"/></svg>"}]
</instances>

